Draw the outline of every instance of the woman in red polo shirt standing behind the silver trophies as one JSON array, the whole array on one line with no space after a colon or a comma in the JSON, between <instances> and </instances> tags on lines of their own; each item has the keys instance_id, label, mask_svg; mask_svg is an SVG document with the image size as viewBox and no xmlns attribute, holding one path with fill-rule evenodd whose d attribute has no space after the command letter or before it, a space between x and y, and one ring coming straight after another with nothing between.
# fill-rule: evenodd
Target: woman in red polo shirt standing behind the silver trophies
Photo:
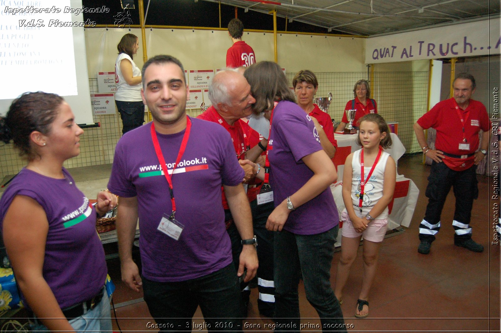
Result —
<instances>
[{"instance_id":1,"label":"woman in red polo shirt standing behind the silver trophies","mask_svg":"<svg viewBox=\"0 0 501 333\"><path fill-rule=\"evenodd\" d=\"M336 128L336 132L343 132L346 124L348 124L348 118L346 117L346 110L357 110L355 113L355 120L353 121L353 126L359 126L358 120L369 113L377 113L376 101L374 101L371 96L371 89L369 83L366 80L358 80L353 88L353 94L355 98L349 100L346 103L345 112L343 113L343 119Z\"/></svg>"}]
</instances>

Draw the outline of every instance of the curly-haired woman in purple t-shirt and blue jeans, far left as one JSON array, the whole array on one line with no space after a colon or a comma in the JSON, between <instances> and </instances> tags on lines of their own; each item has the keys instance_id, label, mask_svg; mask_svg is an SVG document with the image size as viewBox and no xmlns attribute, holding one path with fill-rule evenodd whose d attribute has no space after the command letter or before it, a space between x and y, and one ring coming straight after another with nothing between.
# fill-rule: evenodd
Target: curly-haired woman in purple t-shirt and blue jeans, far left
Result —
<instances>
[{"instance_id":1,"label":"curly-haired woman in purple t-shirt and blue jeans, far left","mask_svg":"<svg viewBox=\"0 0 501 333\"><path fill-rule=\"evenodd\" d=\"M82 133L55 94L25 93L0 117L0 140L28 160L0 200L0 228L33 330L112 329L96 215L116 197L99 192L89 206L63 168L80 153Z\"/></svg>"}]
</instances>

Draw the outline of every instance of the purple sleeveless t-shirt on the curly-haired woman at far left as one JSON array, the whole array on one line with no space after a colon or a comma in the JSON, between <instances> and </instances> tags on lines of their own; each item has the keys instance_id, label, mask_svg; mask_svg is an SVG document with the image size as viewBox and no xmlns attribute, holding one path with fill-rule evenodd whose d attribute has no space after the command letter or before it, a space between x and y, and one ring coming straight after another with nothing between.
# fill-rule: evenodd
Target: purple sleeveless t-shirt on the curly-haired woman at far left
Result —
<instances>
[{"instance_id":1,"label":"purple sleeveless t-shirt on the curly-haired woman at far left","mask_svg":"<svg viewBox=\"0 0 501 333\"><path fill-rule=\"evenodd\" d=\"M63 173L67 178L54 179L21 170L0 200L0 227L16 195L42 206L49 221L42 272L59 306L66 308L94 297L106 281L107 268L95 208L64 168Z\"/></svg>"}]
</instances>

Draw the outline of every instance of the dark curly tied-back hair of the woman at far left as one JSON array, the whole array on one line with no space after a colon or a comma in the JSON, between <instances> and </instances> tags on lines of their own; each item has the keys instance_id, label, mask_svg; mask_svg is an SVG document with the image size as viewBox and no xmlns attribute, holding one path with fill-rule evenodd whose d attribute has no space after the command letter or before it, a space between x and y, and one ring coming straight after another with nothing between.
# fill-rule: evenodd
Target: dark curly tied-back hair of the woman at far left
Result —
<instances>
[{"instance_id":1,"label":"dark curly tied-back hair of the woman at far left","mask_svg":"<svg viewBox=\"0 0 501 333\"><path fill-rule=\"evenodd\" d=\"M14 141L21 157L35 159L37 154L32 149L30 135L33 131L50 134L63 102L64 99L56 94L24 93L12 102L7 116L0 117L0 141Z\"/></svg>"}]
</instances>

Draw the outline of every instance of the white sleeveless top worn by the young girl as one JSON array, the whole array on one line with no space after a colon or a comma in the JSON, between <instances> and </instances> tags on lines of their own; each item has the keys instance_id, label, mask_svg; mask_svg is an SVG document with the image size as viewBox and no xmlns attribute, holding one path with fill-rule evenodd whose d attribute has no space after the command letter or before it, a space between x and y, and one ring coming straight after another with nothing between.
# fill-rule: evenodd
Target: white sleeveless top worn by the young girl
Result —
<instances>
[{"instance_id":1,"label":"white sleeveless top worn by the young girl","mask_svg":"<svg viewBox=\"0 0 501 333\"><path fill-rule=\"evenodd\" d=\"M360 152L362 149L357 150L353 153L353 159L351 161L351 167L353 169L353 178L351 180L351 200L353 201L353 208L358 217L367 215L379 199L383 196L383 180L384 180L384 170L386 168L386 161L388 160L387 152L383 151L381 157L372 172L371 178L367 181L364 188L364 197L362 202L362 213L360 213L359 201L360 201ZM364 167L364 178L371 171L372 166ZM386 207L379 216L372 216L375 219L383 219L388 217L388 207Z\"/></svg>"}]
</instances>

